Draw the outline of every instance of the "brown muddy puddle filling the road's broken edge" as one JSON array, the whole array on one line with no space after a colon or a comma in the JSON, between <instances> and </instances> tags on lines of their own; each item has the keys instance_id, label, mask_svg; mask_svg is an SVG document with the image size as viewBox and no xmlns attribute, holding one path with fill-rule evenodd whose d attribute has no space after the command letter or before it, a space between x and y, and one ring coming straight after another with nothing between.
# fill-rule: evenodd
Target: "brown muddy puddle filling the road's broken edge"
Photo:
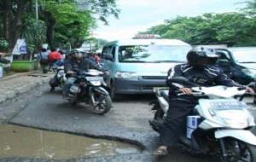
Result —
<instances>
[{"instance_id":1,"label":"brown muddy puddle filling the road's broken edge","mask_svg":"<svg viewBox=\"0 0 256 162\"><path fill-rule=\"evenodd\" d=\"M73 159L138 152L139 148L125 142L0 124L0 159Z\"/></svg>"}]
</instances>

